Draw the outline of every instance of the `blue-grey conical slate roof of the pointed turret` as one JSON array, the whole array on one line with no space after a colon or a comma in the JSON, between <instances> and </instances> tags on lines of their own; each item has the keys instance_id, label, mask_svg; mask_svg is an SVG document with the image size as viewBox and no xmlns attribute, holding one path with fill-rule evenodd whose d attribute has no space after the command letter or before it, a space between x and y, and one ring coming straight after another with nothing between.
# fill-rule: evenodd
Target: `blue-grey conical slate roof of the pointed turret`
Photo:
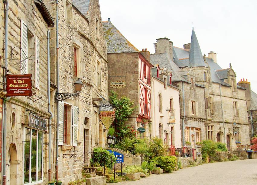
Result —
<instances>
[{"instance_id":1,"label":"blue-grey conical slate roof of the pointed turret","mask_svg":"<svg viewBox=\"0 0 257 185\"><path fill-rule=\"evenodd\" d=\"M192 30L190 53L189 53L189 64L188 67L208 67L207 63L203 60L203 54L200 49L194 28Z\"/></svg>"}]
</instances>

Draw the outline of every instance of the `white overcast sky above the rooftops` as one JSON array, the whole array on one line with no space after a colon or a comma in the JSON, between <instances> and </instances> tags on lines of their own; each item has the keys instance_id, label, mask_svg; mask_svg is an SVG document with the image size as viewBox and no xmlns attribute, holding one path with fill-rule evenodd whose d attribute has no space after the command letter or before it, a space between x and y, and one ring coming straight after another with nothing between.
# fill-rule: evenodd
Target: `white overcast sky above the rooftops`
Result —
<instances>
[{"instance_id":1,"label":"white overcast sky above the rooftops","mask_svg":"<svg viewBox=\"0 0 257 185\"><path fill-rule=\"evenodd\" d=\"M102 21L112 24L139 50L154 53L157 38L174 46L190 43L192 22L203 54L217 53L217 62L236 80L247 78L257 93L256 0L99 0Z\"/></svg>"}]
</instances>

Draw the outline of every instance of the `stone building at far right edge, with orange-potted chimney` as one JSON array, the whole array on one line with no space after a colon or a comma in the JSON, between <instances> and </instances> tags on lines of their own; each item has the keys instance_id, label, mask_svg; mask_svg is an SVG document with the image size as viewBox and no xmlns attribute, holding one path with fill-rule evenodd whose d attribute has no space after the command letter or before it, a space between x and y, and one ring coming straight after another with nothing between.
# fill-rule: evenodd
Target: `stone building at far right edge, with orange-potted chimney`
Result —
<instances>
[{"instance_id":1,"label":"stone building at far right edge, with orange-potted chimney","mask_svg":"<svg viewBox=\"0 0 257 185\"><path fill-rule=\"evenodd\" d=\"M249 136L256 137L257 134L257 94L251 90L251 83L246 79L240 79L237 85L246 89L246 104L249 118Z\"/></svg>"}]
</instances>

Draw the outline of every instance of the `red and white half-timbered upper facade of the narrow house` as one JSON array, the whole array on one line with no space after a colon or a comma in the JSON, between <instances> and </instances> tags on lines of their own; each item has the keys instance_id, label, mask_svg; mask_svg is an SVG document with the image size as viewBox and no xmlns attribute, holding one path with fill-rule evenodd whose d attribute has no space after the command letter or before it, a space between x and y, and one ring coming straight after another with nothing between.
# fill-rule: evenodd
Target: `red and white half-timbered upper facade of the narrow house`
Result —
<instances>
[{"instance_id":1,"label":"red and white half-timbered upper facade of the narrow house","mask_svg":"<svg viewBox=\"0 0 257 185\"><path fill-rule=\"evenodd\" d=\"M138 118L151 118L151 65L141 53L139 55L139 104Z\"/></svg>"}]
</instances>

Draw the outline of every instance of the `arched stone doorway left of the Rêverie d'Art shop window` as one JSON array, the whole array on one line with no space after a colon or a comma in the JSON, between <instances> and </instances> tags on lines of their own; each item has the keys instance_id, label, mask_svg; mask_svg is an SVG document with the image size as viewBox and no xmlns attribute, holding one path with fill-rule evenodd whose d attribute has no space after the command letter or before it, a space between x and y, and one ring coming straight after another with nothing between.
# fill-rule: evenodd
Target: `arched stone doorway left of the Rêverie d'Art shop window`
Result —
<instances>
[{"instance_id":1,"label":"arched stone doorway left of the R\u00eaverie d'Art shop window","mask_svg":"<svg viewBox=\"0 0 257 185\"><path fill-rule=\"evenodd\" d=\"M7 166L7 185L16 185L20 183L19 180L19 165L20 161L17 158L17 149L14 143L11 143L8 150L8 166Z\"/></svg>"}]
</instances>

